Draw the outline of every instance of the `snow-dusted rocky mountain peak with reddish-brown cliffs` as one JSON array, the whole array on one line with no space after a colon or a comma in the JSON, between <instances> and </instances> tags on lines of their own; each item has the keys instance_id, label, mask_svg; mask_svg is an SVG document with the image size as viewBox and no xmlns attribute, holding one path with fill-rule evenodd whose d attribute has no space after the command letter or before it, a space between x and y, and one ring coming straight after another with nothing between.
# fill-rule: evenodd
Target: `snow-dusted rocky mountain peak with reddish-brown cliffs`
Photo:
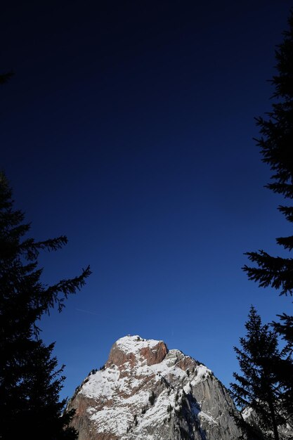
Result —
<instances>
[{"instance_id":1,"label":"snow-dusted rocky mountain peak with reddish-brown cliffs","mask_svg":"<svg viewBox=\"0 0 293 440\"><path fill-rule=\"evenodd\" d=\"M162 341L126 336L72 397L79 440L236 440L226 388Z\"/></svg>"}]
</instances>

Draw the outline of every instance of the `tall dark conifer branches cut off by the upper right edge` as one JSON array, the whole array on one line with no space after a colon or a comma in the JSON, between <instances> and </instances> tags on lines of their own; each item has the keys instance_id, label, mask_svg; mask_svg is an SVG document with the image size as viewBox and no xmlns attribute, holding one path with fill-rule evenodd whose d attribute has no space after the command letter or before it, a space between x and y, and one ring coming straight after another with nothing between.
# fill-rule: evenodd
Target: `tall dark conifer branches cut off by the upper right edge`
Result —
<instances>
[{"instance_id":1,"label":"tall dark conifer branches cut off by the upper right edge","mask_svg":"<svg viewBox=\"0 0 293 440\"><path fill-rule=\"evenodd\" d=\"M293 11L289 15L289 30L284 32L282 44L277 46L275 57L278 75L271 83L275 87L275 103L267 118L256 119L260 127L261 138L257 145L261 148L263 162L270 167L273 175L271 183L266 188L281 194L285 199L293 199ZM293 206L278 207L287 221L293 223ZM293 235L276 239L278 245L287 251L293 249ZM261 287L274 287L280 295L293 293L293 259L275 257L264 250L247 252L254 267L244 266L244 271L250 280L259 283ZM293 343L292 316L285 313L280 316L281 322L276 329L288 341Z\"/></svg>"}]
</instances>

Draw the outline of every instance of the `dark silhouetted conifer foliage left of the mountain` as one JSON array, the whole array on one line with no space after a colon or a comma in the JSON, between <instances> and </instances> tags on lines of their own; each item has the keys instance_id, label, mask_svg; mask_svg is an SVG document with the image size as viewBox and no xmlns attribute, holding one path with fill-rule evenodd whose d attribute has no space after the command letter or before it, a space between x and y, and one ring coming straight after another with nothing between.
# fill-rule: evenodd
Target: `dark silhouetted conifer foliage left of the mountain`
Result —
<instances>
[{"instance_id":1,"label":"dark silhouetted conifer foliage left of the mountain","mask_svg":"<svg viewBox=\"0 0 293 440\"><path fill-rule=\"evenodd\" d=\"M58 250L67 238L25 238L30 225L23 221L0 174L0 439L73 440L77 432L67 426L72 413L63 413L66 401L59 401L63 367L57 368L53 344L46 347L38 338L37 322L54 306L62 310L90 270L56 285L41 283L39 252Z\"/></svg>"}]
</instances>

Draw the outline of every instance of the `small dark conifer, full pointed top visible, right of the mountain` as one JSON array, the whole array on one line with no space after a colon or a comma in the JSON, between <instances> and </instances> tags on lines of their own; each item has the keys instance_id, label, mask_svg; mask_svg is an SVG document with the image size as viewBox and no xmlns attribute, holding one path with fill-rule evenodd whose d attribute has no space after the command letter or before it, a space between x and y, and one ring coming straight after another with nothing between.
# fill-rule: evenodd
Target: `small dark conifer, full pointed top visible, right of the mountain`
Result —
<instances>
[{"instance_id":1,"label":"small dark conifer, full pointed top visible, right of the mountain","mask_svg":"<svg viewBox=\"0 0 293 440\"><path fill-rule=\"evenodd\" d=\"M230 394L238 407L251 408L256 416L255 428L237 418L249 438L266 438L267 432L273 432L273 438L278 440L278 427L288 422L282 405L287 386L280 381L278 370L293 375L291 351L288 346L278 348L278 333L261 323L253 306L248 318L247 333L240 337L242 349L234 347L242 375L233 373L237 382L230 384Z\"/></svg>"}]
</instances>

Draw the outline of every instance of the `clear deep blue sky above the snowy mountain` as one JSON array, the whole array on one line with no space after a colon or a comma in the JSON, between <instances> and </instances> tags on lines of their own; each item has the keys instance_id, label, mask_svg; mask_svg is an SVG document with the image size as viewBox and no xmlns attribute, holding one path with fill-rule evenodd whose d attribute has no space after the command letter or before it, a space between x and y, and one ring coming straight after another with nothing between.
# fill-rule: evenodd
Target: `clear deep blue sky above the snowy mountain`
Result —
<instances>
[{"instance_id":1,"label":"clear deep blue sky above the snowy mountain","mask_svg":"<svg viewBox=\"0 0 293 440\"><path fill-rule=\"evenodd\" d=\"M44 283L91 265L42 322L71 396L124 335L163 339L228 386L249 306L292 300L247 280L282 252L282 202L253 138L290 1L50 0L1 5L1 164L43 254Z\"/></svg>"}]
</instances>

